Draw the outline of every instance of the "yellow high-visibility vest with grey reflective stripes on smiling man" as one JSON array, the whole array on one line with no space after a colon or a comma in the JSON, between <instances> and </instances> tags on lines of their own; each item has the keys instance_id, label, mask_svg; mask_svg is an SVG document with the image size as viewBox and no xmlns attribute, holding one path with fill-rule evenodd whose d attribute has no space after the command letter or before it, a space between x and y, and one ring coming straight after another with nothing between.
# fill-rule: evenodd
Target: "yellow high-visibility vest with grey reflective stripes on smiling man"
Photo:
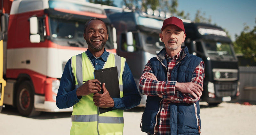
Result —
<instances>
[{"instance_id":1,"label":"yellow high-visibility vest with grey reflective stripes on smiling man","mask_svg":"<svg viewBox=\"0 0 256 135\"><path fill-rule=\"evenodd\" d=\"M71 57L73 75L76 80L76 88L87 80L94 79L95 68L85 52ZM125 59L109 54L103 68L117 67L120 96L123 97L123 71ZM98 107L94 105L93 94L82 96L82 99L73 106L71 116L72 127L70 134L122 134L124 127L123 110L112 110L103 114L98 113Z\"/></svg>"}]
</instances>

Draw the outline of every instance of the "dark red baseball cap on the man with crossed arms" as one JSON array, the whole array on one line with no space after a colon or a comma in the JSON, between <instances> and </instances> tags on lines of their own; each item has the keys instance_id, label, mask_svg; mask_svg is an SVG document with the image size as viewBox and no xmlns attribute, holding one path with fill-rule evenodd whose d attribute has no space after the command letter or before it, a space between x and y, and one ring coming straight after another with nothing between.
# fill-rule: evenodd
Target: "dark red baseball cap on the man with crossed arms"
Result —
<instances>
[{"instance_id":1,"label":"dark red baseball cap on the man with crossed arms","mask_svg":"<svg viewBox=\"0 0 256 135\"><path fill-rule=\"evenodd\" d=\"M161 30L163 31L164 28L169 25L176 25L177 27L182 29L185 33L185 28L184 28L183 22L179 18L172 16L170 18L165 19Z\"/></svg>"}]
</instances>

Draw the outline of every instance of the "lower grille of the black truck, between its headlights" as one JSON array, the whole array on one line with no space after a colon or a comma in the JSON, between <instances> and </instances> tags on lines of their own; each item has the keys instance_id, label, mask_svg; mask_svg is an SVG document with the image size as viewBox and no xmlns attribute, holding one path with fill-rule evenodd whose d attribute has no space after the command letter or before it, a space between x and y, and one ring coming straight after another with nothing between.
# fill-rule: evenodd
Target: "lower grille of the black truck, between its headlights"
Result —
<instances>
[{"instance_id":1,"label":"lower grille of the black truck, between its headlights","mask_svg":"<svg viewBox=\"0 0 256 135\"><path fill-rule=\"evenodd\" d=\"M220 83L215 84L217 97L227 97L236 95L237 83Z\"/></svg>"}]
</instances>

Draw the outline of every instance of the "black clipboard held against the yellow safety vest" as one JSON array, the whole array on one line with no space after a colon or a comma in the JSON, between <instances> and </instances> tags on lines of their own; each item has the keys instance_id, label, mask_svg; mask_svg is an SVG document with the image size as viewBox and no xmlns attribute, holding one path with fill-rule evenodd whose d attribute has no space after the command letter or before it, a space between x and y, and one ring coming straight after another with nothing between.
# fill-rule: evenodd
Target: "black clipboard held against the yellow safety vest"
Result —
<instances>
[{"instance_id":1,"label":"black clipboard held against the yellow safety vest","mask_svg":"<svg viewBox=\"0 0 256 135\"><path fill-rule=\"evenodd\" d=\"M94 70L94 78L98 79L101 85L105 83L105 87L108 90L111 98L120 98L117 67ZM103 90L101 90L99 93L102 94ZM100 114L111 111L111 110L112 109L110 108L99 107Z\"/></svg>"}]
</instances>

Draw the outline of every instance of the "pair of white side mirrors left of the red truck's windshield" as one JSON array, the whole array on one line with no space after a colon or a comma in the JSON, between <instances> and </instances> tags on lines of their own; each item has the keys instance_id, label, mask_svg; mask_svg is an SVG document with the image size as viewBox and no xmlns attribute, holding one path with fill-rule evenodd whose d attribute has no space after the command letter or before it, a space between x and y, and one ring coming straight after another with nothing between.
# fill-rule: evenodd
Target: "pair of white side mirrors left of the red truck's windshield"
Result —
<instances>
[{"instance_id":1,"label":"pair of white side mirrors left of the red truck's windshield","mask_svg":"<svg viewBox=\"0 0 256 135\"><path fill-rule=\"evenodd\" d=\"M37 17L29 18L29 28L30 28L30 42L31 43L39 43L41 41L41 37L38 34L38 20Z\"/></svg>"}]
</instances>

